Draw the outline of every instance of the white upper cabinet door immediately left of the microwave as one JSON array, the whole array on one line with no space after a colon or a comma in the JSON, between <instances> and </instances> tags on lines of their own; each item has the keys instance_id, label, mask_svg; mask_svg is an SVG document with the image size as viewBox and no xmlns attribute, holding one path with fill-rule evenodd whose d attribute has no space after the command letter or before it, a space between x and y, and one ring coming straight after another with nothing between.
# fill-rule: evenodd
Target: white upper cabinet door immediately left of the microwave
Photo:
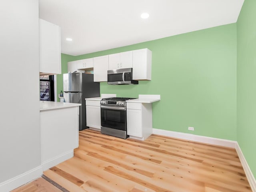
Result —
<instances>
[{"instance_id":1,"label":"white upper cabinet door immediately left of the microwave","mask_svg":"<svg viewBox=\"0 0 256 192\"><path fill-rule=\"evenodd\" d=\"M108 55L93 58L94 82L108 80Z\"/></svg>"}]
</instances>

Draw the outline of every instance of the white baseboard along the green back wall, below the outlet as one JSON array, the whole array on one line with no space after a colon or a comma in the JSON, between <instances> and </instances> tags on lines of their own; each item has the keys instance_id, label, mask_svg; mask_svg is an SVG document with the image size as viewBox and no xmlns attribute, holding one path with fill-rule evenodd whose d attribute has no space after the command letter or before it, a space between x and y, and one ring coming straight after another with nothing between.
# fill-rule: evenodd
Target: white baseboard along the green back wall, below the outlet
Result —
<instances>
[{"instance_id":1,"label":"white baseboard along the green back wall, below the outlet","mask_svg":"<svg viewBox=\"0 0 256 192\"><path fill-rule=\"evenodd\" d=\"M220 145L220 146L231 147L231 148L236 148L236 144L237 144L236 141L232 141L232 140L218 139L213 137L206 137L206 136L193 135L188 133L181 133L181 132L154 129L154 128L153 128L153 134L164 135L164 136L169 136L169 137L174 137L179 139L186 139L186 140L202 142L202 143L208 143L213 145Z\"/></svg>"}]
</instances>

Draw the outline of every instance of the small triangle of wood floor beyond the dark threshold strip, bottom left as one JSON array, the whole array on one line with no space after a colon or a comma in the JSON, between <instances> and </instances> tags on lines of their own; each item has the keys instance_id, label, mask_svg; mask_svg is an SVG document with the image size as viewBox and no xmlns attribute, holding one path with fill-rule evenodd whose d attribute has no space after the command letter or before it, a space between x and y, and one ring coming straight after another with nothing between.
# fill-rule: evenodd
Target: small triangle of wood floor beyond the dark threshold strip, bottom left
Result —
<instances>
[{"instance_id":1,"label":"small triangle of wood floor beyond the dark threshold strip, bottom left","mask_svg":"<svg viewBox=\"0 0 256 192\"><path fill-rule=\"evenodd\" d=\"M62 190L40 177L26 185L12 190L12 192L62 192Z\"/></svg>"}]
</instances>

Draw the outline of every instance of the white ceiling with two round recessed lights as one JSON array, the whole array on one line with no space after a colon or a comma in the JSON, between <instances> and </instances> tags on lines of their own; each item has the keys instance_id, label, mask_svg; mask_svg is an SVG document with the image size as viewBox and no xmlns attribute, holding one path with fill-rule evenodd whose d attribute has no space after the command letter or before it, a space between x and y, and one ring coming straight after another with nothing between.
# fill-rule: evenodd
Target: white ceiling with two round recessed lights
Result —
<instances>
[{"instance_id":1,"label":"white ceiling with two round recessed lights","mask_svg":"<svg viewBox=\"0 0 256 192\"><path fill-rule=\"evenodd\" d=\"M81 55L237 21L244 0L39 0L61 28L61 52ZM148 12L148 19L140 14ZM72 38L67 42L66 38Z\"/></svg>"}]
</instances>

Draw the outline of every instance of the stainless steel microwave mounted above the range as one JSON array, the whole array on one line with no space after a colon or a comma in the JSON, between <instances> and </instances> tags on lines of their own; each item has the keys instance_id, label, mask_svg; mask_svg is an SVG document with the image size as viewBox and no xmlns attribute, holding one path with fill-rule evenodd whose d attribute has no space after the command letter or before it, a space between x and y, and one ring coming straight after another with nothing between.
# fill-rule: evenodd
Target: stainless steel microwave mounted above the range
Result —
<instances>
[{"instance_id":1,"label":"stainless steel microwave mounted above the range","mask_svg":"<svg viewBox=\"0 0 256 192\"><path fill-rule=\"evenodd\" d=\"M108 84L138 84L137 80L132 80L132 68L108 70Z\"/></svg>"}]
</instances>

